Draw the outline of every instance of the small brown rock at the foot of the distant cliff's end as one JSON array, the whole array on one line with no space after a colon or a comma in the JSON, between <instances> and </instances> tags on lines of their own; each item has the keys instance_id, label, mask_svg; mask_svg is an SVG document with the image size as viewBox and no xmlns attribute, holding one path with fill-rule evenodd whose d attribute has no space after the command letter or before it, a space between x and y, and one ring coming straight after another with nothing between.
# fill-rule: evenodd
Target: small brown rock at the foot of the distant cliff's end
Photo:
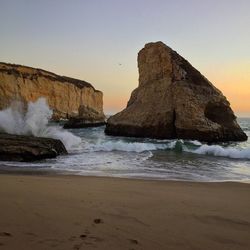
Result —
<instances>
[{"instance_id":1,"label":"small brown rock at the foot of the distant cliff's end","mask_svg":"<svg viewBox=\"0 0 250 250\"><path fill-rule=\"evenodd\" d=\"M81 105L77 117L70 117L64 124L64 128L88 128L105 125L105 116L96 110Z\"/></svg>"}]
</instances>

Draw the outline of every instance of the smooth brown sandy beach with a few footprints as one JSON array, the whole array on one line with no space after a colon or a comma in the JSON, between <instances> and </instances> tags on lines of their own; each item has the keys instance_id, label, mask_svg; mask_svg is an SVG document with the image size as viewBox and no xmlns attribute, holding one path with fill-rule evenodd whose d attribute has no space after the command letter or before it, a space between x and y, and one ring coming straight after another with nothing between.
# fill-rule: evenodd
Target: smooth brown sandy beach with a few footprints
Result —
<instances>
[{"instance_id":1,"label":"smooth brown sandy beach with a few footprints","mask_svg":"<svg viewBox=\"0 0 250 250\"><path fill-rule=\"evenodd\" d=\"M0 249L250 249L250 185L0 175Z\"/></svg>"}]
</instances>

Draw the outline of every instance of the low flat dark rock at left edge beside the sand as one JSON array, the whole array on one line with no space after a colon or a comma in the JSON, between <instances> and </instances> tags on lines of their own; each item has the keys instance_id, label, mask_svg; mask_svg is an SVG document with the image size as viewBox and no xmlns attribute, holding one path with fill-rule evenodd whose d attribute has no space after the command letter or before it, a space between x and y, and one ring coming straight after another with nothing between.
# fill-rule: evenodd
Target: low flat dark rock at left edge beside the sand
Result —
<instances>
[{"instance_id":1,"label":"low flat dark rock at left edge beside the sand","mask_svg":"<svg viewBox=\"0 0 250 250\"><path fill-rule=\"evenodd\" d=\"M37 161L67 154L60 140L0 134L0 161Z\"/></svg>"}]
</instances>

